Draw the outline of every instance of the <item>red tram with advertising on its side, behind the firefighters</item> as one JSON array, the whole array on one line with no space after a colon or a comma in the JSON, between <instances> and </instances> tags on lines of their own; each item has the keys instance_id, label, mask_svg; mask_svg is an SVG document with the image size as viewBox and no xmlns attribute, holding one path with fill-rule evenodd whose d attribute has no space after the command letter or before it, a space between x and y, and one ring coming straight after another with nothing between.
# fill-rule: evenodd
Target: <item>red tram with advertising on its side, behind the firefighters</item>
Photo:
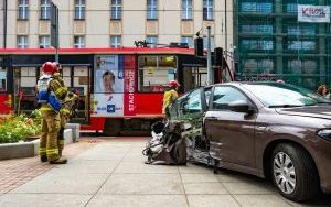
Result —
<instances>
[{"instance_id":1,"label":"red tram with advertising on its side, behind the firefighters","mask_svg":"<svg viewBox=\"0 0 331 207\"><path fill-rule=\"evenodd\" d=\"M0 116L38 108L35 85L53 48L0 48ZM206 59L178 47L61 48L62 78L79 95L82 130L118 135L143 131L163 118L163 91L177 79L185 92L207 84ZM215 83L234 79L229 67L214 67Z\"/></svg>"}]
</instances>

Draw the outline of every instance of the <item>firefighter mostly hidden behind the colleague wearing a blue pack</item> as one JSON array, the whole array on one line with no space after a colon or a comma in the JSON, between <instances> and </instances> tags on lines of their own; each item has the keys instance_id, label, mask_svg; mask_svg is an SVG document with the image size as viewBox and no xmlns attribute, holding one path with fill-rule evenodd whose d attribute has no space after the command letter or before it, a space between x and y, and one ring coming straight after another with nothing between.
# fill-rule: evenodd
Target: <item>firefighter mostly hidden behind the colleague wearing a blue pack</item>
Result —
<instances>
[{"instance_id":1,"label":"firefighter mostly hidden behind the colleague wearing a blue pack","mask_svg":"<svg viewBox=\"0 0 331 207\"><path fill-rule=\"evenodd\" d=\"M58 131L58 137L57 137L57 146L58 146L58 154L60 156L62 156L62 151L64 148L64 128L65 128L65 123L67 123L67 117L70 116L71 111L67 110L67 107L64 107L63 102L66 99L66 95L67 95L67 87L65 87L63 79L61 78L61 70L62 67L57 62L53 62L54 67L56 68L56 72L53 74L53 78L56 79L62 88L62 96L60 97L60 100L62 102L62 108L60 110L60 119L61 119L61 128Z\"/></svg>"}]
</instances>

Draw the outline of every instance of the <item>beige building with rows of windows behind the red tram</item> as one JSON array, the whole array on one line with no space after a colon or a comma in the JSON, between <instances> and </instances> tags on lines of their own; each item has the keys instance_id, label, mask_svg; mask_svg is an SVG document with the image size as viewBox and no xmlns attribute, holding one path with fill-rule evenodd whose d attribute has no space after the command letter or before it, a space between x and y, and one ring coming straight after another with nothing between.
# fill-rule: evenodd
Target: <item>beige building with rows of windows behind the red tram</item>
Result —
<instances>
[{"instance_id":1,"label":"beige building with rows of windows behind the red tram","mask_svg":"<svg viewBox=\"0 0 331 207\"><path fill-rule=\"evenodd\" d=\"M121 47L135 41L185 42L212 28L212 45L233 44L233 0L53 0L60 9L60 47ZM0 44L50 47L50 0L0 0ZM3 23L7 21L7 32ZM226 35L227 34L227 35Z\"/></svg>"}]
</instances>

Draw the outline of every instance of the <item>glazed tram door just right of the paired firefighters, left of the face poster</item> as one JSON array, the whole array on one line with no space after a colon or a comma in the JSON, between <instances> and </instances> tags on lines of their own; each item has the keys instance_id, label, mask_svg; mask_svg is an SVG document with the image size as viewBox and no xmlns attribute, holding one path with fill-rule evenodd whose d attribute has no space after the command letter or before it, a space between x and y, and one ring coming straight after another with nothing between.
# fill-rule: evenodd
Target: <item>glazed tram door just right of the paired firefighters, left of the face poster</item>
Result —
<instances>
[{"instance_id":1,"label":"glazed tram door just right of the paired firefighters, left of the face poster","mask_svg":"<svg viewBox=\"0 0 331 207\"><path fill-rule=\"evenodd\" d=\"M79 103L73 123L89 123L89 91L90 91L90 67L88 66L62 66L62 76L65 86L79 96Z\"/></svg>"}]
</instances>

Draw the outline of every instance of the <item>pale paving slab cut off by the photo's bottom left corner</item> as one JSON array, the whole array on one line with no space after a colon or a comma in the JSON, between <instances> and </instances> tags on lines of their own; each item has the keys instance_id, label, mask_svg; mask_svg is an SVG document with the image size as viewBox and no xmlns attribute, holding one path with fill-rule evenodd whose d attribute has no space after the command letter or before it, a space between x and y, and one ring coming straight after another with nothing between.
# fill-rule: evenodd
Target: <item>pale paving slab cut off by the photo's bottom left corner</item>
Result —
<instances>
[{"instance_id":1,"label":"pale paving slab cut off by the photo's bottom left corner","mask_svg":"<svg viewBox=\"0 0 331 207\"><path fill-rule=\"evenodd\" d=\"M92 195L67 194L6 194L0 197L1 207L79 207L84 206Z\"/></svg>"}]
</instances>

